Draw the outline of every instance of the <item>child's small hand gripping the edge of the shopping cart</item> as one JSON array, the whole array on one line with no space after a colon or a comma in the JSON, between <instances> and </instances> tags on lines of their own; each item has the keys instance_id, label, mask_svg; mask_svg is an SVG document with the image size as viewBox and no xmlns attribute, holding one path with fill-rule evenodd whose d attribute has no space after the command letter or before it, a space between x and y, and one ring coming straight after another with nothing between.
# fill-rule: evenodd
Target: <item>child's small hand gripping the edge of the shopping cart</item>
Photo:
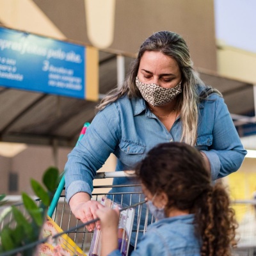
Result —
<instances>
[{"instance_id":1,"label":"child's small hand gripping the edge of the shopping cart","mask_svg":"<svg viewBox=\"0 0 256 256\"><path fill-rule=\"evenodd\" d=\"M118 207L111 209L109 207L102 207L96 211L97 216L100 219L101 229L113 229L117 230L120 211Z\"/></svg>"}]
</instances>

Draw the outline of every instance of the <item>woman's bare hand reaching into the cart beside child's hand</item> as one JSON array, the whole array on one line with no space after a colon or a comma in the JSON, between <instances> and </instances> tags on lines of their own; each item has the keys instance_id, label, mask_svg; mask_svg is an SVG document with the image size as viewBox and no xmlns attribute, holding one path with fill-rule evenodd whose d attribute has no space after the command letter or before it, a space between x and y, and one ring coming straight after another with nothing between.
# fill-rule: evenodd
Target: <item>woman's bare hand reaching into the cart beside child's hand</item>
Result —
<instances>
[{"instance_id":1,"label":"woman's bare hand reaching into the cart beside child's hand","mask_svg":"<svg viewBox=\"0 0 256 256\"><path fill-rule=\"evenodd\" d=\"M97 201L91 201L90 195L84 192L76 193L69 201L70 209L74 216L78 220L81 220L83 223L87 221L94 220L98 218L96 212L97 210L104 208L102 204ZM86 228L89 231L92 231L96 227L100 228L100 222L91 223L90 225L86 225Z\"/></svg>"}]
</instances>

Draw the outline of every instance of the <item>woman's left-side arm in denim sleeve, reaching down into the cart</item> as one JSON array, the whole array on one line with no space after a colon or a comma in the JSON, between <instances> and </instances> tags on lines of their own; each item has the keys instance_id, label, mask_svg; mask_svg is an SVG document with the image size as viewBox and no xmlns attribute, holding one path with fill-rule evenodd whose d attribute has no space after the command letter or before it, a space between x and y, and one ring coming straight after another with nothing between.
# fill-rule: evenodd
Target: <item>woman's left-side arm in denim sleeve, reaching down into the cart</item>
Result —
<instances>
[{"instance_id":1,"label":"woman's left-side arm in denim sleeve, reaching down into the cart","mask_svg":"<svg viewBox=\"0 0 256 256\"><path fill-rule=\"evenodd\" d=\"M65 165L65 187L67 202L77 219L86 222L96 218L95 212L102 207L90 201L93 177L119 141L119 118L115 104L98 113L86 130L83 139L68 154ZM94 224L87 227L92 230Z\"/></svg>"}]
</instances>

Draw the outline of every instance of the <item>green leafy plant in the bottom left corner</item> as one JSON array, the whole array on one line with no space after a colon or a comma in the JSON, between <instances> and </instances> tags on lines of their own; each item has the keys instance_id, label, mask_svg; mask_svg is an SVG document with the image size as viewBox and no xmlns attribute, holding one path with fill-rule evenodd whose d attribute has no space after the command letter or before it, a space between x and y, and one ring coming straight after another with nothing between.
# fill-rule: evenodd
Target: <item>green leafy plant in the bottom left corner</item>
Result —
<instances>
[{"instance_id":1,"label":"green leafy plant in the bottom left corner","mask_svg":"<svg viewBox=\"0 0 256 256\"><path fill-rule=\"evenodd\" d=\"M1 255L31 256L35 252L47 209L59 183L58 169L55 167L48 168L44 172L42 182L44 186L31 179L31 187L39 198L38 202L28 194L22 193L22 204L26 209L25 213L20 211L17 205L12 205L0 214L0 224L5 223L0 232ZM0 206L6 203L4 198L4 195L0 195Z\"/></svg>"}]
</instances>

